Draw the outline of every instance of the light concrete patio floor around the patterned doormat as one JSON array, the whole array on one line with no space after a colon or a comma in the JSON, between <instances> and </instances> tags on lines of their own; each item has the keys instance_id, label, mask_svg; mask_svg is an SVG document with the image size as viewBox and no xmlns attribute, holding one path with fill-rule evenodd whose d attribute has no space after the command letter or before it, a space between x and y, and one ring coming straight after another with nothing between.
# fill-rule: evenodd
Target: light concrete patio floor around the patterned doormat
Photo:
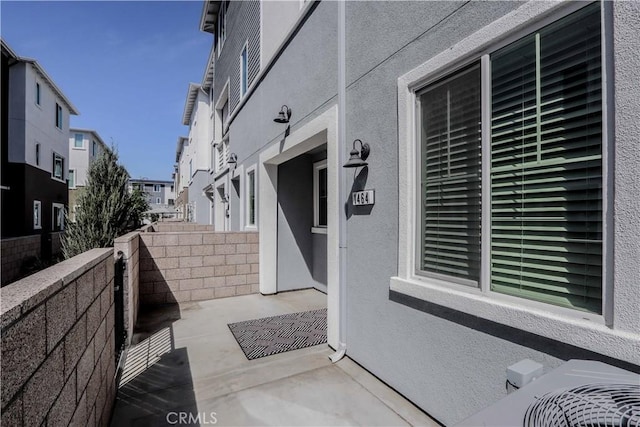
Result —
<instances>
[{"instance_id":1,"label":"light concrete patio floor around the patterned doormat","mask_svg":"<svg viewBox=\"0 0 640 427\"><path fill-rule=\"evenodd\" d=\"M112 425L437 425L327 345L249 361L227 327L325 306L305 290L141 313Z\"/></svg>"}]
</instances>

